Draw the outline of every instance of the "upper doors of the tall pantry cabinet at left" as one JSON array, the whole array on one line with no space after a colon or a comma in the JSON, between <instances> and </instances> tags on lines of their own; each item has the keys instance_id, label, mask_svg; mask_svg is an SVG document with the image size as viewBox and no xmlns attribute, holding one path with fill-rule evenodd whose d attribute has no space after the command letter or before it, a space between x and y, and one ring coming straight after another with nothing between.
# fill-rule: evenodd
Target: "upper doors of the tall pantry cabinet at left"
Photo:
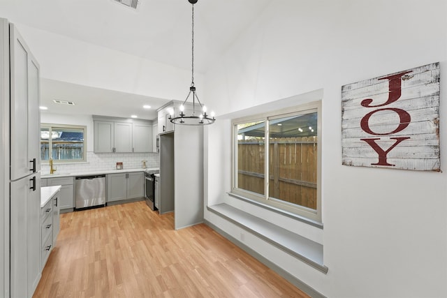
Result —
<instances>
[{"instance_id":1,"label":"upper doors of the tall pantry cabinet at left","mask_svg":"<svg viewBox=\"0 0 447 298\"><path fill-rule=\"evenodd\" d=\"M39 66L10 24L10 179L38 171L40 142ZM31 119L29 118L31 117Z\"/></svg>"}]
</instances>

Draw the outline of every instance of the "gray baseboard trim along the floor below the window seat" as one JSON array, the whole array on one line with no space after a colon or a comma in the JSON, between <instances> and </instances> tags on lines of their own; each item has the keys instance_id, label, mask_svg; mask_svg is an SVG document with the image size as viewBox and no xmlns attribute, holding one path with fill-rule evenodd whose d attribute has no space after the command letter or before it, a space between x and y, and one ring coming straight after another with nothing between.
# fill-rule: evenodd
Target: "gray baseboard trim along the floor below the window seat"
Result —
<instances>
[{"instance_id":1,"label":"gray baseboard trim along the floor below the window seat","mask_svg":"<svg viewBox=\"0 0 447 298\"><path fill-rule=\"evenodd\" d=\"M213 223L210 223L210 221L207 221L205 219L204 223L205 223L205 225L209 226L210 228L212 228L213 230L215 230L216 232L221 234L223 237L225 237L229 241L233 242L233 244L242 248L242 250L244 250L246 253L248 253L252 257L256 258L256 260L258 260L259 262L263 263L265 266L267 266L270 269L272 269L273 271L275 271L277 274L279 274L280 276L285 278L288 282L295 285L295 287L299 288L300 290L305 292L310 297L312 297L312 298L326 298L324 295L322 295L320 292L318 292L314 288L310 287L306 283L303 283L302 281L300 281L300 279L298 279L295 276L293 276L292 274L288 273L288 271L286 271L286 270L282 269L281 267L279 267L278 265L274 264L274 262L268 260L267 258L264 258L262 255L260 255L256 251L254 251L254 249L243 244L241 241L237 240L235 237L231 236L227 232L224 232L223 230L218 228Z\"/></svg>"}]
</instances>

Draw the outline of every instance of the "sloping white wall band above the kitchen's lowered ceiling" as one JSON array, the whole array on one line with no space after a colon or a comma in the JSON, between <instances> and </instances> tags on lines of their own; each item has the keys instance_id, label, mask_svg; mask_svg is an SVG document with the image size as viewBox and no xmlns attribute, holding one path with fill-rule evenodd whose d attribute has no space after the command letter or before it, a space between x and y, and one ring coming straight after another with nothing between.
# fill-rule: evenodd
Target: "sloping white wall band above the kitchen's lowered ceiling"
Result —
<instances>
[{"instance_id":1,"label":"sloping white wall band above the kitchen's lowered ceiling","mask_svg":"<svg viewBox=\"0 0 447 298\"><path fill-rule=\"evenodd\" d=\"M16 25L46 79L166 99L184 98L191 81L191 70ZM195 77L196 84L202 86L203 75Z\"/></svg>"}]
</instances>

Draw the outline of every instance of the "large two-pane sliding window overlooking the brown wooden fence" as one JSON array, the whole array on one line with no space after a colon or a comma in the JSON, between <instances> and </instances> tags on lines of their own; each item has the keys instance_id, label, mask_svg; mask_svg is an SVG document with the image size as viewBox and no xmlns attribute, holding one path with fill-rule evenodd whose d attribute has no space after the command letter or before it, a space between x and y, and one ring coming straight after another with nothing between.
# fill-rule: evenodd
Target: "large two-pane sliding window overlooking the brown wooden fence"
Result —
<instances>
[{"instance_id":1,"label":"large two-pane sliding window overlooking the brown wooden fence","mask_svg":"<svg viewBox=\"0 0 447 298\"><path fill-rule=\"evenodd\" d=\"M318 102L235 119L232 192L321 222L320 110Z\"/></svg>"}]
</instances>

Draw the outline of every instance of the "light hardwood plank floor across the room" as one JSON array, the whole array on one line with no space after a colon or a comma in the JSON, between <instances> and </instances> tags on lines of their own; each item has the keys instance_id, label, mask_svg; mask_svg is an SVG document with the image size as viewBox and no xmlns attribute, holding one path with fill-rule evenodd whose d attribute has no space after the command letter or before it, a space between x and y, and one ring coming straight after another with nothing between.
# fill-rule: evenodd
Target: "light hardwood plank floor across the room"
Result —
<instances>
[{"instance_id":1,"label":"light hardwood plank floor across the room","mask_svg":"<svg viewBox=\"0 0 447 298\"><path fill-rule=\"evenodd\" d=\"M61 214L34 297L308 297L207 225L145 202Z\"/></svg>"}]
</instances>

